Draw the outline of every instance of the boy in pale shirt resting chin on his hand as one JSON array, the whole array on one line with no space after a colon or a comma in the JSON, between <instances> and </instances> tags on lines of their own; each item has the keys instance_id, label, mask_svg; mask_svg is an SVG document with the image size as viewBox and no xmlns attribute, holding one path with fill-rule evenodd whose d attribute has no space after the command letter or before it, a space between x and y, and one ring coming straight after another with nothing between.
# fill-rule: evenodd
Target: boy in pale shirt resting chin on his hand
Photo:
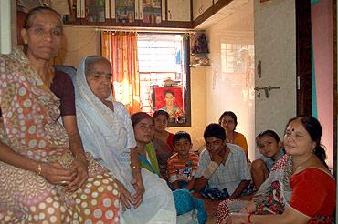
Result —
<instances>
[{"instance_id":1,"label":"boy in pale shirt resting chin on his hand","mask_svg":"<svg viewBox=\"0 0 338 224\"><path fill-rule=\"evenodd\" d=\"M218 124L206 127L206 149L195 174L195 189L206 199L238 199L252 191L247 158L242 148L227 143L226 131Z\"/></svg>"}]
</instances>

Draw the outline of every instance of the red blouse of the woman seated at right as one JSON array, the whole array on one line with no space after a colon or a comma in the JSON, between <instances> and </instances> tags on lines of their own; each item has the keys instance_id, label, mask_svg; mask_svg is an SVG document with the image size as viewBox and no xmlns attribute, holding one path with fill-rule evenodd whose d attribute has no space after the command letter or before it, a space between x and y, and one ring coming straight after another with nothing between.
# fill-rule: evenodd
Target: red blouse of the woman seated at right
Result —
<instances>
[{"instance_id":1,"label":"red blouse of the woman seated at right","mask_svg":"<svg viewBox=\"0 0 338 224\"><path fill-rule=\"evenodd\" d=\"M290 178L290 207L310 217L333 216L336 185L332 176L320 168L306 168ZM325 222L326 223L326 222Z\"/></svg>"}]
</instances>

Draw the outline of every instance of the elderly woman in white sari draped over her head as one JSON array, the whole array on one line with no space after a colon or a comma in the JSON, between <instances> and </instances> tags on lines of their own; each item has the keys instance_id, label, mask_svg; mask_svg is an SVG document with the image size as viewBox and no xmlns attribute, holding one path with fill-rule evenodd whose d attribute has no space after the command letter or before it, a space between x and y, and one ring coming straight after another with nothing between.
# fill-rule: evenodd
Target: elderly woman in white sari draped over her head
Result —
<instances>
[{"instance_id":1,"label":"elderly woman in white sari draped over her head","mask_svg":"<svg viewBox=\"0 0 338 224\"><path fill-rule=\"evenodd\" d=\"M163 179L141 169L130 116L124 105L112 100L110 62L88 56L75 79L83 146L121 182L121 222L175 223L171 190Z\"/></svg>"}]
</instances>

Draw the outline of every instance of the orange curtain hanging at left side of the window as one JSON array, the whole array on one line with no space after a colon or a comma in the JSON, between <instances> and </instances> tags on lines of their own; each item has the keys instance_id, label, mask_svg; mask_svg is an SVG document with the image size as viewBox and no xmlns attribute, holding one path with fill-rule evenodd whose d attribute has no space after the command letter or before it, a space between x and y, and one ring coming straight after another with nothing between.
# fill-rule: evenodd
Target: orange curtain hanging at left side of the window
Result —
<instances>
[{"instance_id":1,"label":"orange curtain hanging at left side of the window","mask_svg":"<svg viewBox=\"0 0 338 224\"><path fill-rule=\"evenodd\" d=\"M111 61L115 100L123 103L130 114L139 112L141 105L137 34L102 31L101 47L102 56Z\"/></svg>"}]
</instances>

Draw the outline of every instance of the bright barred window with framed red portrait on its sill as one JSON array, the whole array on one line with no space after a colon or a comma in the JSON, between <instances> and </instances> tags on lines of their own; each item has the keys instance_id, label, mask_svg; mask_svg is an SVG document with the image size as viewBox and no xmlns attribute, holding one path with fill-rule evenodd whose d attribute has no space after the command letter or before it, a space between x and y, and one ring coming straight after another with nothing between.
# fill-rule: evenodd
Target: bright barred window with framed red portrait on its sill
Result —
<instances>
[{"instance_id":1,"label":"bright barred window with framed red portrait on its sill","mask_svg":"<svg viewBox=\"0 0 338 224\"><path fill-rule=\"evenodd\" d=\"M187 36L139 33L137 44L142 110L164 109L169 126L190 126Z\"/></svg>"}]
</instances>

